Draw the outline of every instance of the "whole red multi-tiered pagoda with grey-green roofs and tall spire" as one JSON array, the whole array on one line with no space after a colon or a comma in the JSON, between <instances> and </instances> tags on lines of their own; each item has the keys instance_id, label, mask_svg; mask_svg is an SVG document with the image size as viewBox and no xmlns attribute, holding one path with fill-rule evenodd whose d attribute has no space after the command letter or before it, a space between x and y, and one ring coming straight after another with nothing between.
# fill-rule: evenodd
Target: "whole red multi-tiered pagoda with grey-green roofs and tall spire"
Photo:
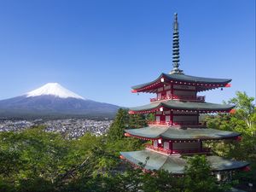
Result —
<instances>
[{"instance_id":1,"label":"whole red multi-tiered pagoda with grey-green roofs and tall spire","mask_svg":"<svg viewBox=\"0 0 256 192\"><path fill-rule=\"evenodd\" d=\"M143 166L146 171L166 170L174 175L183 175L187 165L184 155L204 154L212 172L230 172L248 169L244 161L228 160L213 155L204 148L206 141L241 140L241 134L232 131L209 129L200 121L202 113L233 113L235 106L206 102L199 92L230 87L231 79L211 79L186 75L179 68L179 34L177 14L173 23L173 69L161 73L159 78L131 87L133 93L154 93L148 105L130 108L129 113L154 113L154 121L148 127L125 130L126 137L150 140L141 151L120 152L120 158L134 166ZM146 162L146 163L145 163Z\"/></svg>"}]
</instances>

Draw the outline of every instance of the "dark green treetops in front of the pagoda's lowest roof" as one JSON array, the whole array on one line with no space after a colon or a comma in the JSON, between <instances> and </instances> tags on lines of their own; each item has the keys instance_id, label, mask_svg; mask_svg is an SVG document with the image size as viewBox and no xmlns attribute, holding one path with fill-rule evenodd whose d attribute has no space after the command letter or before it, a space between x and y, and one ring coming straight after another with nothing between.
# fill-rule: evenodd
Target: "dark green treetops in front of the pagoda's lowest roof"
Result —
<instances>
[{"instance_id":1,"label":"dark green treetops in front of the pagoda's lowest roof","mask_svg":"<svg viewBox=\"0 0 256 192\"><path fill-rule=\"evenodd\" d=\"M176 177L164 170L143 172L141 169L126 168L124 173L115 179L118 191L144 192L220 192L230 188L227 184L219 184L212 175L210 164L205 156L195 156L188 160L185 177Z\"/></svg>"}]
</instances>

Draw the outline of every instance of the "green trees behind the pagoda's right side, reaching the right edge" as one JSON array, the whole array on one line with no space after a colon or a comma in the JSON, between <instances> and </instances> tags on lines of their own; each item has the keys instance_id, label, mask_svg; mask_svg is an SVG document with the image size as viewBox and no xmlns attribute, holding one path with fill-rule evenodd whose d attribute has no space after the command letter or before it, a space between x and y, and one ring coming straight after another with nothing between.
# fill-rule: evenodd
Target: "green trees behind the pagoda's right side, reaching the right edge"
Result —
<instances>
[{"instance_id":1,"label":"green trees behind the pagoda's right side, reaching the right edge","mask_svg":"<svg viewBox=\"0 0 256 192\"><path fill-rule=\"evenodd\" d=\"M228 103L236 105L236 113L207 116L207 126L224 131L240 132L241 141L212 143L213 150L222 156L251 162L251 172L238 172L236 178L241 182L256 184L256 111L254 98L245 92L236 92L236 97ZM228 146L227 146L228 145Z\"/></svg>"}]
</instances>

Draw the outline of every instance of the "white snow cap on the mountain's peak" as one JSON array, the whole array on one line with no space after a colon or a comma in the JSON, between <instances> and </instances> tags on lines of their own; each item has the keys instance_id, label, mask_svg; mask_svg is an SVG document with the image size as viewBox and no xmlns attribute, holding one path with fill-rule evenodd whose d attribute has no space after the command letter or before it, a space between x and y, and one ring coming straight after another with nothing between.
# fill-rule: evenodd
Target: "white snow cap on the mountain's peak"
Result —
<instances>
[{"instance_id":1,"label":"white snow cap on the mountain's peak","mask_svg":"<svg viewBox=\"0 0 256 192\"><path fill-rule=\"evenodd\" d=\"M26 97L31 96L58 96L61 98L77 98L77 99L84 99L83 96L79 96L72 92L71 90L67 90L66 88L62 87L61 84L58 83L48 83L44 84L44 86L39 87L37 90L32 90L26 93Z\"/></svg>"}]
</instances>

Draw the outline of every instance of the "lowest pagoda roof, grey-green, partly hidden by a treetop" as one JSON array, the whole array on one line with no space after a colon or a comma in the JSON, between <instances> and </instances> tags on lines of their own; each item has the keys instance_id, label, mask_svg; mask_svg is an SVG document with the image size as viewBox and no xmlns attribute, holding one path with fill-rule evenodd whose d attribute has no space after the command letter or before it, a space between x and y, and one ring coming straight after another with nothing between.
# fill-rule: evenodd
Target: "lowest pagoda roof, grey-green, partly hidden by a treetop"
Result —
<instances>
[{"instance_id":1,"label":"lowest pagoda roof, grey-green, partly hidden by a treetop","mask_svg":"<svg viewBox=\"0 0 256 192\"><path fill-rule=\"evenodd\" d=\"M128 160L136 166L143 166L145 169L165 170L172 172L173 174L183 174L184 166L187 165L187 160L178 155L166 155L154 152L152 150L120 152L125 160ZM149 158L147 160L147 158ZM189 156L187 158L190 158ZM230 171L241 169L249 164L245 161L227 160L223 157L210 155L207 156L207 160L210 162L212 172Z\"/></svg>"}]
</instances>

